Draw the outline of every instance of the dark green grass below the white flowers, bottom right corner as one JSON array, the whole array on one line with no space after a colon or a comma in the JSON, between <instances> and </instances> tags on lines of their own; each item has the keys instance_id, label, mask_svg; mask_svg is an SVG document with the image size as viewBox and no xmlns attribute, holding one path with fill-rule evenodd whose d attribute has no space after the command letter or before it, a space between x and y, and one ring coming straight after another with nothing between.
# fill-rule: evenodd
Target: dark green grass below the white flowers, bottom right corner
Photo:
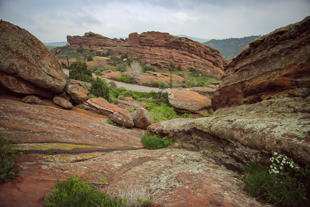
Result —
<instances>
[{"instance_id":1,"label":"dark green grass below the white flowers, bottom right corner","mask_svg":"<svg viewBox=\"0 0 310 207\"><path fill-rule=\"evenodd\" d=\"M305 187L296 179L280 179L261 165L244 166L245 191L273 205L307 206Z\"/></svg>"}]
</instances>

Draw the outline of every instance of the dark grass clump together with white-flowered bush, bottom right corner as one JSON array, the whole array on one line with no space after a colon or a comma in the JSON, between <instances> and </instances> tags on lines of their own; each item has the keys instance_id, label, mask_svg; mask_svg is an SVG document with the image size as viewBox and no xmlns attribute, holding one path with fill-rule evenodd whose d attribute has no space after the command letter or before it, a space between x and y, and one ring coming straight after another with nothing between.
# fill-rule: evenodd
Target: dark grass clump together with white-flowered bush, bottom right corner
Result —
<instances>
[{"instance_id":1,"label":"dark grass clump together with white-flowered bush, bottom right corner","mask_svg":"<svg viewBox=\"0 0 310 207\"><path fill-rule=\"evenodd\" d=\"M309 165L300 167L277 152L272 152L270 161L269 169L256 164L244 166L245 190L250 196L273 205L307 206L310 197Z\"/></svg>"}]
</instances>

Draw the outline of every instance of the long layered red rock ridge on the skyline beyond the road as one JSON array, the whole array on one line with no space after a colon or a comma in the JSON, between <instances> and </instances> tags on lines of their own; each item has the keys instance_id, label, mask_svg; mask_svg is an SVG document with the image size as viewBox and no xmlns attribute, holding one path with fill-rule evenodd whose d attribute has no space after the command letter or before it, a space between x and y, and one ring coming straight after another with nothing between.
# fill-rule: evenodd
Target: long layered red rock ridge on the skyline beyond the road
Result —
<instances>
[{"instance_id":1,"label":"long layered red rock ridge on the skyline beyond the road","mask_svg":"<svg viewBox=\"0 0 310 207\"><path fill-rule=\"evenodd\" d=\"M195 42L188 38L179 38L168 33L144 32L131 33L124 39L109 39L91 32L84 36L67 36L71 47L100 49L111 48L114 52L122 52L139 56L141 63L155 66L160 70L169 69L170 62L183 70L191 67L202 70L210 75L221 77L224 65L228 63L218 50Z\"/></svg>"}]
</instances>

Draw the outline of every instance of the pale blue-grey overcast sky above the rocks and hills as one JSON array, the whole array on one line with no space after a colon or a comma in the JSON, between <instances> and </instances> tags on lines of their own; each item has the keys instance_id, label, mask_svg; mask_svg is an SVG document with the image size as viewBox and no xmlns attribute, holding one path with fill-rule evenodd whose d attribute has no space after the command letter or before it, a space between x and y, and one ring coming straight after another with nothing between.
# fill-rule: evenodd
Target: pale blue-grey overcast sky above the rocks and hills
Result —
<instances>
[{"instance_id":1,"label":"pale blue-grey overcast sky above the rocks and hills","mask_svg":"<svg viewBox=\"0 0 310 207\"><path fill-rule=\"evenodd\" d=\"M197 38L263 35L310 15L310 0L0 0L0 18L42 42L94 32L159 31Z\"/></svg>"}]
</instances>

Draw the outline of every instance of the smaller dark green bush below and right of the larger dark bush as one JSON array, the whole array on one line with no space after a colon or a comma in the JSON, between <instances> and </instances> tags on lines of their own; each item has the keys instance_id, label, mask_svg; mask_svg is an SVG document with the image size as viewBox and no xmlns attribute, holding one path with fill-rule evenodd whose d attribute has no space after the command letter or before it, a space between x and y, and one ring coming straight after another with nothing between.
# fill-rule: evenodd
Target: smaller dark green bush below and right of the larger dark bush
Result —
<instances>
[{"instance_id":1,"label":"smaller dark green bush below and right of the larger dark bush","mask_svg":"<svg viewBox=\"0 0 310 207\"><path fill-rule=\"evenodd\" d=\"M96 77L91 83L90 94L96 97L103 97L105 100L109 101L110 88L106 80Z\"/></svg>"}]
</instances>

